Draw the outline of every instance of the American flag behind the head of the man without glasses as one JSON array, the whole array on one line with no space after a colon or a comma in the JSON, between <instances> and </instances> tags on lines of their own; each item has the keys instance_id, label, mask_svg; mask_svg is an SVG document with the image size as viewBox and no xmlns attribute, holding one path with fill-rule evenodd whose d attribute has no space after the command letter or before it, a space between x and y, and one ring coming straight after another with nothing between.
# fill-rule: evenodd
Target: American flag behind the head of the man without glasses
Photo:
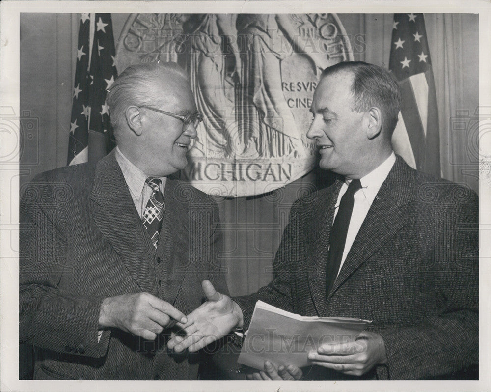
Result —
<instances>
[{"instance_id":1,"label":"American flag behind the head of the man without glasses","mask_svg":"<svg viewBox=\"0 0 491 392\"><path fill-rule=\"evenodd\" d=\"M394 150L413 168L441 175L435 81L423 14L394 14L389 69L401 86Z\"/></svg>"}]
</instances>

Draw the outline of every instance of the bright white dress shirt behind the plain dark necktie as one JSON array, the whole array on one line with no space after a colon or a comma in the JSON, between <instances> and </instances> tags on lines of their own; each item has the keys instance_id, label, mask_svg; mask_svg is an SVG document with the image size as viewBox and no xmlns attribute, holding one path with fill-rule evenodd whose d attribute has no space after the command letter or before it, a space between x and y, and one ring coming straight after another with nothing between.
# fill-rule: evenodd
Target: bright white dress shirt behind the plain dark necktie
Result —
<instances>
[{"instance_id":1,"label":"bright white dress shirt behind the plain dark necktie","mask_svg":"<svg viewBox=\"0 0 491 392\"><path fill-rule=\"evenodd\" d=\"M346 243L344 245L343 258L341 259L341 265L339 266L339 271L343 267L344 261L346 260L346 256L348 252L350 252L351 246L355 241L356 235L360 230L365 217L367 216L368 210L370 209L373 201L375 200L375 196L379 192L382 183L387 178L390 169L394 166L396 161L396 155L392 151L392 154L380 165L379 167L372 170L370 173L360 178L361 189L359 189L355 193L355 204L353 205L353 213L351 215L350 225L348 227L348 233L346 234ZM351 179L346 177L344 184L341 186L341 190L339 191L339 195L336 201L335 210L334 210L334 218L336 218L337 212L339 210L339 204L341 203L341 197L346 193L348 189L348 185L350 184ZM333 222L334 222L333 218ZM339 275L338 271L338 275Z\"/></svg>"}]
</instances>

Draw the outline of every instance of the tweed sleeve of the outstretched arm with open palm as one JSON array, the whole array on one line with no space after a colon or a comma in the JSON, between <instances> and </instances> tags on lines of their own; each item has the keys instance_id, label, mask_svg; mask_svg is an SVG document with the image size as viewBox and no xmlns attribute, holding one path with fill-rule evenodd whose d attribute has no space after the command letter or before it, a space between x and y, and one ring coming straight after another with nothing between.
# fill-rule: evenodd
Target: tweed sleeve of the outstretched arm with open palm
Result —
<instances>
[{"instance_id":1,"label":"tweed sleeve of the outstretched arm with open palm","mask_svg":"<svg viewBox=\"0 0 491 392\"><path fill-rule=\"evenodd\" d=\"M249 327L254 306L258 300L277 308L293 312L292 285L297 265L301 265L303 242L301 201L297 200L290 210L288 224L283 231L281 243L273 262L273 280L256 293L235 297L233 300L241 307L244 315L244 329Z\"/></svg>"}]
</instances>

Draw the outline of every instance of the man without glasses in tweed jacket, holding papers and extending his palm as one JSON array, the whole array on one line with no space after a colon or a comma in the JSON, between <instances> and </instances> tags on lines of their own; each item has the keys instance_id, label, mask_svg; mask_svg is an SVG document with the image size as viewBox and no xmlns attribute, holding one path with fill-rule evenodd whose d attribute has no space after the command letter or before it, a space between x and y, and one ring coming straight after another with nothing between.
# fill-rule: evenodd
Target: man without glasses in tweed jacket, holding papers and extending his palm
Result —
<instances>
[{"instance_id":1,"label":"man without glasses in tweed jacket, holding papers and extending his palm","mask_svg":"<svg viewBox=\"0 0 491 392\"><path fill-rule=\"evenodd\" d=\"M324 71L307 137L319 145L320 166L339 179L292 206L268 286L232 301L203 282L208 301L189 315L189 336L171 339L169 347L196 350L234 327L247 328L262 300L303 316L373 321L354 342L310 353L308 378L445 378L477 364L477 196L395 156L390 140L399 101L397 84L380 67L346 62ZM362 189L326 293L334 215L345 182L355 179ZM250 378L300 375L298 368L265 364Z\"/></svg>"}]
</instances>

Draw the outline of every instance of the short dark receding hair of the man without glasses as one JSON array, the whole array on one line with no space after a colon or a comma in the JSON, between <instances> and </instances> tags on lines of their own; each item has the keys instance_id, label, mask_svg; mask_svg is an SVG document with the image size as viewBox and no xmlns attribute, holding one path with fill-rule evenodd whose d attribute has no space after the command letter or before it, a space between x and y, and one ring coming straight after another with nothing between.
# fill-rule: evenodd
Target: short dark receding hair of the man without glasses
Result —
<instances>
[{"instance_id":1,"label":"short dark receding hair of the man without glasses","mask_svg":"<svg viewBox=\"0 0 491 392\"><path fill-rule=\"evenodd\" d=\"M401 93L394 76L374 64L363 61L344 61L327 67L321 75L332 75L341 71L354 76L351 92L354 112L364 112L377 106L382 110L383 124L389 136L397 125L401 107Z\"/></svg>"}]
</instances>

